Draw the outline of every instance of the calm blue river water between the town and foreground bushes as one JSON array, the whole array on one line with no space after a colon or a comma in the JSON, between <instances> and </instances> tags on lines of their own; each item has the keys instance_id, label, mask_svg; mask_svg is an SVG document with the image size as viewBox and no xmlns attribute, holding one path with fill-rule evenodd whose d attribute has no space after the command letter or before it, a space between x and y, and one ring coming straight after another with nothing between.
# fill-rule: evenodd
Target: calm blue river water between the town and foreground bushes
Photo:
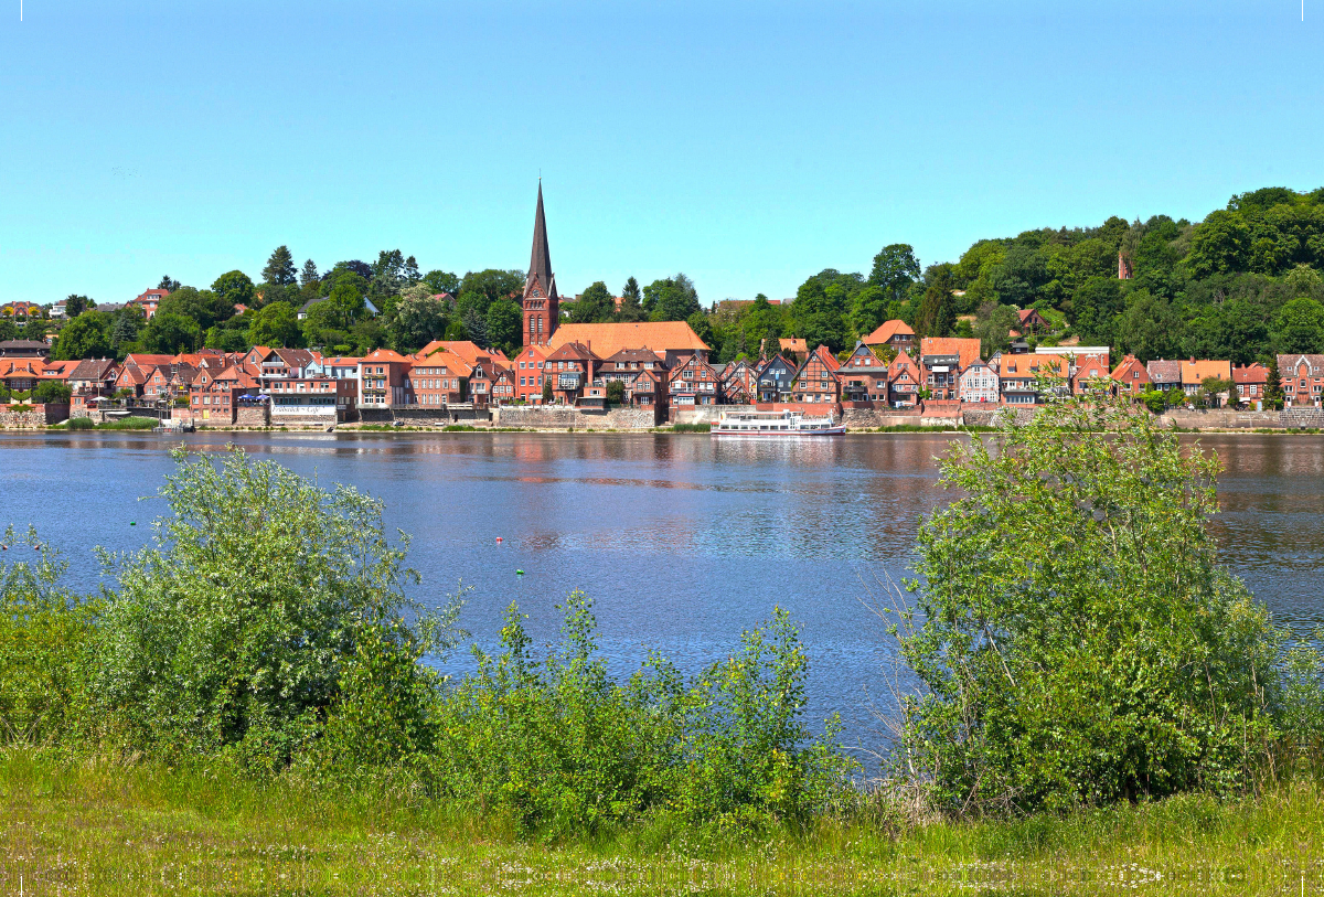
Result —
<instances>
[{"instance_id":1,"label":"calm blue river water between the town and foreground bushes","mask_svg":"<svg viewBox=\"0 0 1324 897\"><path fill-rule=\"evenodd\" d=\"M413 536L421 598L471 586L463 624L493 644L511 601L535 639L573 589L596 602L600 643L625 672L649 648L686 671L732 651L775 605L802 624L810 712L839 710L847 744L878 746L870 705L891 706L888 639L866 583L904 574L922 515L943 500L933 455L949 437L732 442L661 434L196 434L323 483L380 496ZM0 527L38 528L75 585L99 581L94 545L134 549L164 511L152 495L177 438L0 435ZM1205 435L1226 472L1215 527L1227 562L1294 627L1324 622L1324 437ZM136 527L130 527L136 521ZM502 544L496 537L502 537ZM516 576L523 570L524 576ZM445 664L469 667L467 655Z\"/></svg>"}]
</instances>

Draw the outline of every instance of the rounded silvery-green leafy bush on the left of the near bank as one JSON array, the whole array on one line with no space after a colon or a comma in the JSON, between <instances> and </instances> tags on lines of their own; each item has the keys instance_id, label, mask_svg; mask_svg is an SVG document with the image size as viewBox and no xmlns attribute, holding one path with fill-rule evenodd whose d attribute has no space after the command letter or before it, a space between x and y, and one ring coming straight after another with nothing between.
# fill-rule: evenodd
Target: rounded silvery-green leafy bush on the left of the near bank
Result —
<instances>
[{"instance_id":1,"label":"rounded silvery-green leafy bush on the left of the near bank","mask_svg":"<svg viewBox=\"0 0 1324 897\"><path fill-rule=\"evenodd\" d=\"M286 763L356 665L412 663L458 638L457 607L405 598L416 574L380 501L238 450L220 468L173 456L160 492L173 516L150 546L106 557L120 589L97 632L95 693L134 746Z\"/></svg>"}]
</instances>

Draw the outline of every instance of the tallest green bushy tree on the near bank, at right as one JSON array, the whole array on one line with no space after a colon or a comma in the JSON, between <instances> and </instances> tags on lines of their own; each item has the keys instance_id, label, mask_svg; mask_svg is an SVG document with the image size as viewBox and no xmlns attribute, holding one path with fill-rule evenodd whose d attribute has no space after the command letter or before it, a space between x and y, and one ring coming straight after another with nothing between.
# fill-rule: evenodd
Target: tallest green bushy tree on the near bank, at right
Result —
<instances>
[{"instance_id":1,"label":"tallest green bushy tree on the near bank, at right","mask_svg":"<svg viewBox=\"0 0 1324 897\"><path fill-rule=\"evenodd\" d=\"M914 610L894 630L924 687L904 701L896 762L935 804L1245 783L1272 733L1278 635L1219 562L1217 458L1092 397L953 442L941 471L961 497L922 525Z\"/></svg>"}]
</instances>

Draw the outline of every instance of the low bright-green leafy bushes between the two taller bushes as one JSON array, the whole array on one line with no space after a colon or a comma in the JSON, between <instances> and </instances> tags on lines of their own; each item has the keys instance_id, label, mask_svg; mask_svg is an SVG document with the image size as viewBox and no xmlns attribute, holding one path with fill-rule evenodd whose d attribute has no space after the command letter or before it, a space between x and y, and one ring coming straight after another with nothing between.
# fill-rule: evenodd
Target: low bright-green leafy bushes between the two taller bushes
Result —
<instances>
[{"instance_id":1,"label":"low bright-green leafy bushes between the two taller bushes","mask_svg":"<svg viewBox=\"0 0 1324 897\"><path fill-rule=\"evenodd\" d=\"M442 792L552 836L649 814L801 818L846 786L835 722L810 741L800 721L806 662L784 611L687 685L655 655L614 681L591 602L575 593L563 609L560 644L542 663L515 606L502 652L474 650L478 673L438 708L429 773Z\"/></svg>"}]
</instances>

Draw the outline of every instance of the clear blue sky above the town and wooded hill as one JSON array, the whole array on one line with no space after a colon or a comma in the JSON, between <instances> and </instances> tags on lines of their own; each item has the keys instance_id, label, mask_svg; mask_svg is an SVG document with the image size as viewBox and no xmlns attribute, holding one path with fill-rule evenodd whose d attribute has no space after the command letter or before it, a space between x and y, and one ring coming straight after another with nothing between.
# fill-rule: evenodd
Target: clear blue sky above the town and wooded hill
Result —
<instances>
[{"instance_id":1,"label":"clear blue sky above the town and wooded hill","mask_svg":"<svg viewBox=\"0 0 1324 897\"><path fill-rule=\"evenodd\" d=\"M1324 184L1321 0L9 5L0 300L524 269L539 172L563 292L706 304Z\"/></svg>"}]
</instances>

